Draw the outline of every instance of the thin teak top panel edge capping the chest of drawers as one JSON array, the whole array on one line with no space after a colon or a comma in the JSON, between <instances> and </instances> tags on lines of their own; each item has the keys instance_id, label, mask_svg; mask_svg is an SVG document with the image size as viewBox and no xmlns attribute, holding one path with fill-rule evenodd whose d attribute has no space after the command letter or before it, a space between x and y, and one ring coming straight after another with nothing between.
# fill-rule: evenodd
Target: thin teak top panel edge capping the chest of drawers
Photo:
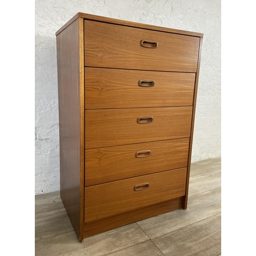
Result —
<instances>
[{"instance_id":1,"label":"thin teak top panel edge capping the chest of drawers","mask_svg":"<svg viewBox=\"0 0 256 256\"><path fill-rule=\"evenodd\" d=\"M134 27L134 28L142 28L142 29L148 29L148 30L163 31L163 32L174 33L174 34L182 34L182 35L203 37L203 33L185 31L185 30L179 30L179 29L172 29L172 28L165 28L165 27L153 26L153 25L136 23L136 22L129 22L127 20L102 17L102 16L97 16L97 15L92 15L92 14L82 13L82 12L78 12L75 16L73 16L65 25L63 25L56 32L56 35L59 34L63 29L67 28L78 17L85 18L85 19L90 19L90 20L96 20L96 21L99 21L99 22L118 24L118 25L121 25L121 26L129 26L129 27Z\"/></svg>"}]
</instances>

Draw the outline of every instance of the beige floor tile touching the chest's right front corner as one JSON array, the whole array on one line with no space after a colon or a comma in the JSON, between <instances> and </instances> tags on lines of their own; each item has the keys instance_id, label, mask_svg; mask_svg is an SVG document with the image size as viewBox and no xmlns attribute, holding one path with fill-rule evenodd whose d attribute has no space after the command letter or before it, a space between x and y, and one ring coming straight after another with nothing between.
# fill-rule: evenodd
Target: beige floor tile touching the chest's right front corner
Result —
<instances>
[{"instance_id":1,"label":"beige floor tile touching the chest's right front corner","mask_svg":"<svg viewBox=\"0 0 256 256\"><path fill-rule=\"evenodd\" d=\"M221 188L188 198L186 210L178 209L142 221L138 225L151 239L221 212Z\"/></svg>"}]
</instances>

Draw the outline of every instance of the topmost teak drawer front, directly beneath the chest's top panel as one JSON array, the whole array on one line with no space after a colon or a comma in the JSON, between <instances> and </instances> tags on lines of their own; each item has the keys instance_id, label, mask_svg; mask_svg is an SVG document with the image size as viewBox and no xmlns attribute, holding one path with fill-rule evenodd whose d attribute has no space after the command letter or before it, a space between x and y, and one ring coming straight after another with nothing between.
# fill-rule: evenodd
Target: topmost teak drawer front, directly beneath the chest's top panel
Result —
<instances>
[{"instance_id":1,"label":"topmost teak drawer front, directly beneath the chest's top panel","mask_svg":"<svg viewBox=\"0 0 256 256\"><path fill-rule=\"evenodd\" d=\"M197 72L200 37L92 20L84 20L84 34L87 67Z\"/></svg>"}]
</instances>

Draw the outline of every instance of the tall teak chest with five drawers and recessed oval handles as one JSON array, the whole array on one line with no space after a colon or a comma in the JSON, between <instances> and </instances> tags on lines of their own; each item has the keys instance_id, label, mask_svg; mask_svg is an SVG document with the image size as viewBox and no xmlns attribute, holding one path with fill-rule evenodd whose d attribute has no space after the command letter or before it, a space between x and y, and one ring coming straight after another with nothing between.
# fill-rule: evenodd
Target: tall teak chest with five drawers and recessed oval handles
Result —
<instances>
[{"instance_id":1,"label":"tall teak chest with five drawers and recessed oval handles","mask_svg":"<svg viewBox=\"0 0 256 256\"><path fill-rule=\"evenodd\" d=\"M60 196L79 241L186 209L202 37L84 13L56 32Z\"/></svg>"}]
</instances>

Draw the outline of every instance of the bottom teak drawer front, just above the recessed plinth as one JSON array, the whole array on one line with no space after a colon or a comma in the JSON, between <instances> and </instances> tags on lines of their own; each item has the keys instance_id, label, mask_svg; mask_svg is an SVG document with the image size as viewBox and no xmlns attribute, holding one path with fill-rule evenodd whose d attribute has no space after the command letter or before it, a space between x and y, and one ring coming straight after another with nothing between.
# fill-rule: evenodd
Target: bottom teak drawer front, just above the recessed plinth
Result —
<instances>
[{"instance_id":1,"label":"bottom teak drawer front, just above the recessed plinth","mask_svg":"<svg viewBox=\"0 0 256 256\"><path fill-rule=\"evenodd\" d=\"M184 196L186 173L186 168L180 168L86 187L84 222ZM138 190L135 190L136 186Z\"/></svg>"}]
</instances>

